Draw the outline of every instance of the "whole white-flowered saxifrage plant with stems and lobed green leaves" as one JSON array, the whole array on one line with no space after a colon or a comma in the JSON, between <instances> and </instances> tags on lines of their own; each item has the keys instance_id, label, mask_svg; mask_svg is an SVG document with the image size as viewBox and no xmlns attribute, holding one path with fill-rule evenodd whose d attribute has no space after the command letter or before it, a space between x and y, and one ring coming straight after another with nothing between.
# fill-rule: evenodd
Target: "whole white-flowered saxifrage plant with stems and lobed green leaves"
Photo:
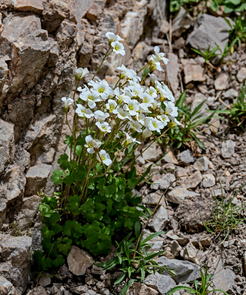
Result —
<instances>
[{"instance_id":1,"label":"whole white-flowered saxifrage plant with stems and lobed green leaves","mask_svg":"<svg viewBox=\"0 0 246 295\"><path fill-rule=\"evenodd\" d=\"M109 48L92 80L79 87L89 71L77 69L73 99L62 98L71 132L65 140L70 156L60 155L60 170L51 176L58 192L51 197L43 191L39 194L44 253L35 251L34 258L43 270L65 263L72 245L86 248L93 255L107 254L116 231L140 227L138 217L147 218L148 210L144 206L143 211L136 209L141 197L132 196L132 189L139 183L136 168L131 165L131 170L123 174L121 167L134 157L141 141L148 137L153 140L154 132L164 135L171 128L167 129L168 122L179 124L174 96L151 74L154 69L163 71L161 60L168 62L158 46L150 61L138 71L144 71L142 79L122 65L117 68L120 74L114 88L105 80L94 81L110 53L125 54L120 36L107 32L106 37ZM151 80L148 88L143 86L147 74ZM72 106L75 113L71 123L67 114ZM79 129L81 125L84 130Z\"/></svg>"}]
</instances>

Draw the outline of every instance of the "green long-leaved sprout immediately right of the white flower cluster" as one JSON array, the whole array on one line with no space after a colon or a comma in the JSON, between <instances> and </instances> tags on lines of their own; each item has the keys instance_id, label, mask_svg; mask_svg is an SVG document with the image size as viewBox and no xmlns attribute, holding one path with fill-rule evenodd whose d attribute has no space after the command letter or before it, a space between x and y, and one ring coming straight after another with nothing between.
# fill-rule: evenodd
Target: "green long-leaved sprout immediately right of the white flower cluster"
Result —
<instances>
[{"instance_id":1,"label":"green long-leaved sprout immediately right of the white flower cluster","mask_svg":"<svg viewBox=\"0 0 246 295\"><path fill-rule=\"evenodd\" d=\"M203 130L198 130L198 127L202 124L211 125L209 124L209 121L218 112L219 108L212 111L209 116L203 117L201 109L206 100L202 101L194 111L191 111L189 105L184 105L186 92L187 91L181 93L176 102L179 112L177 119L184 124L184 127L181 128L180 125L176 125L173 128L170 128L168 141L170 141L170 145L176 145L177 148L180 148L181 145L187 145L189 141L195 140L199 147L204 149L203 143L197 137L197 134L202 134Z\"/></svg>"}]
</instances>

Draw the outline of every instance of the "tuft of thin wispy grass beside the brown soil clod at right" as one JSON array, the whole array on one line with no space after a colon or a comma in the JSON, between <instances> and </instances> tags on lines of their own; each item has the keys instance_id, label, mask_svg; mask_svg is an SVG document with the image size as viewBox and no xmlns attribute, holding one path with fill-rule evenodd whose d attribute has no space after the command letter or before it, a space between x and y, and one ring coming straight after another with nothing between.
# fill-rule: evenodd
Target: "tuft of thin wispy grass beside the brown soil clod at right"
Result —
<instances>
[{"instance_id":1,"label":"tuft of thin wispy grass beside the brown soil clod at right","mask_svg":"<svg viewBox=\"0 0 246 295\"><path fill-rule=\"evenodd\" d=\"M231 199L228 198L228 194L224 197L221 186L221 200L219 201L217 197L214 195L215 202L212 204L212 214L213 217L207 221L203 221L200 213L200 218L202 224L211 234L214 235L214 239L219 237L222 232L226 232L224 240L221 244L226 240L229 235L230 230L236 230L240 224L244 223L245 218L241 218L240 211L245 209L244 205L236 206L232 203L234 198L240 192L240 190L245 186L244 184L237 193Z\"/></svg>"}]
</instances>

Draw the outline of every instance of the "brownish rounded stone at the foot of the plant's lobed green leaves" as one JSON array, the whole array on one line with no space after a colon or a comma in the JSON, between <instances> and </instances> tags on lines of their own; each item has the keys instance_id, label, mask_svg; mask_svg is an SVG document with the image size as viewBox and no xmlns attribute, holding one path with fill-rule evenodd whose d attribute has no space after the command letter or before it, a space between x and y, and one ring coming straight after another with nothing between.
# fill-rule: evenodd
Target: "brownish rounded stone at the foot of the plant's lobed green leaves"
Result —
<instances>
[{"instance_id":1,"label":"brownish rounded stone at the foot of the plant's lobed green leaves","mask_svg":"<svg viewBox=\"0 0 246 295\"><path fill-rule=\"evenodd\" d=\"M83 276L87 268L93 265L93 258L85 250L72 246L67 256L67 264L74 275Z\"/></svg>"}]
</instances>

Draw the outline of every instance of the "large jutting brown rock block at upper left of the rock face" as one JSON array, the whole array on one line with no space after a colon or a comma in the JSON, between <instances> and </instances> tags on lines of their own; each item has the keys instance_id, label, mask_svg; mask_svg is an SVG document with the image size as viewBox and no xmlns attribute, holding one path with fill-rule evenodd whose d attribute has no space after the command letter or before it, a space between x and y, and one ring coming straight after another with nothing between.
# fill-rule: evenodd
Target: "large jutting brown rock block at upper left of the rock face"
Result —
<instances>
[{"instance_id":1,"label":"large jutting brown rock block at upper left of the rock face","mask_svg":"<svg viewBox=\"0 0 246 295\"><path fill-rule=\"evenodd\" d=\"M0 42L6 54L11 54L9 71L13 79L9 92L20 92L24 85L32 88L43 73L50 49L48 33L41 29L39 17L7 16Z\"/></svg>"}]
</instances>

